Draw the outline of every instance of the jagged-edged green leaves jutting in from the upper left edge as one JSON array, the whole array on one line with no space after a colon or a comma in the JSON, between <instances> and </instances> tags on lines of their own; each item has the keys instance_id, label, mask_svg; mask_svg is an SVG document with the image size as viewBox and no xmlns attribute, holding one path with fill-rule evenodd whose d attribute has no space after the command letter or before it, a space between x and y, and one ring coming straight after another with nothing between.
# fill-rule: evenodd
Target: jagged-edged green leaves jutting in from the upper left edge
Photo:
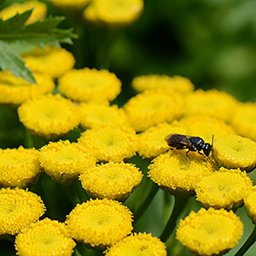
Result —
<instances>
[{"instance_id":1,"label":"jagged-edged green leaves jutting in from the upper left edge","mask_svg":"<svg viewBox=\"0 0 256 256\"><path fill-rule=\"evenodd\" d=\"M61 43L72 44L72 38L77 36L72 29L59 29L64 17L49 17L30 25L26 20L32 14L28 10L17 14L9 20L0 19L0 67L8 69L16 77L35 83L32 72L25 66L16 49L19 45L33 45L44 48L46 44L60 46Z\"/></svg>"}]
</instances>

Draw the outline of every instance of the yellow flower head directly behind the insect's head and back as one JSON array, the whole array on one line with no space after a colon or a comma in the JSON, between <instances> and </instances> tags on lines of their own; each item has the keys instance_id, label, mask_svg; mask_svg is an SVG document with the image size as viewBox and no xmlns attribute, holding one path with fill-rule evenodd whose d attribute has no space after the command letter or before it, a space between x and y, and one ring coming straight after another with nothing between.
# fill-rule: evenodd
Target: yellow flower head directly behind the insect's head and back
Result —
<instances>
[{"instance_id":1,"label":"yellow flower head directly behind the insect's head and back","mask_svg":"<svg viewBox=\"0 0 256 256\"><path fill-rule=\"evenodd\" d=\"M216 138L223 135L235 134L235 131L230 125L227 125L221 119L211 116L188 116L180 119L179 123L180 125L189 127L190 136L201 137L207 143L212 143L212 135Z\"/></svg>"}]
</instances>

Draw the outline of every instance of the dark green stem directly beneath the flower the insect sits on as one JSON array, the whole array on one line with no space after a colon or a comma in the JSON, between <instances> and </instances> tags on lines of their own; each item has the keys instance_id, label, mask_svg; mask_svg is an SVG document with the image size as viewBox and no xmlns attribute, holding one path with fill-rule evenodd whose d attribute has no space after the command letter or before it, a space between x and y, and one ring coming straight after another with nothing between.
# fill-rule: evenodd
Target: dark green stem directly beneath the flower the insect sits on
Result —
<instances>
[{"instance_id":1,"label":"dark green stem directly beneath the flower the insect sits on","mask_svg":"<svg viewBox=\"0 0 256 256\"><path fill-rule=\"evenodd\" d=\"M172 231L176 227L177 217L182 212L183 208L186 206L186 202L189 197L175 195L174 206L172 208L172 214L166 224L166 228L160 236L161 241L166 241L171 235Z\"/></svg>"}]
</instances>

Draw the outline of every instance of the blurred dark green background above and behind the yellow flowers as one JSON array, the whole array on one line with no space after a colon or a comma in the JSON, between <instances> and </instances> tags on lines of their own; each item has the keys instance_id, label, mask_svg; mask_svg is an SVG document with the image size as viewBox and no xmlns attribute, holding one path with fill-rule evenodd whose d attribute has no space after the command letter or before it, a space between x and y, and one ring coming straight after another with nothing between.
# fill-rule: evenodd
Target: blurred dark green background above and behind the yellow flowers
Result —
<instances>
[{"instance_id":1,"label":"blurred dark green background above and behind the yellow flowers","mask_svg":"<svg viewBox=\"0 0 256 256\"><path fill-rule=\"evenodd\" d=\"M165 73L188 77L196 88L217 88L240 101L255 102L256 1L144 2L141 18L119 34L110 50L109 69L124 86L136 75ZM84 52L73 50L79 40L70 49L77 67L95 67L93 33L86 23L79 25L75 32L83 40Z\"/></svg>"}]
</instances>

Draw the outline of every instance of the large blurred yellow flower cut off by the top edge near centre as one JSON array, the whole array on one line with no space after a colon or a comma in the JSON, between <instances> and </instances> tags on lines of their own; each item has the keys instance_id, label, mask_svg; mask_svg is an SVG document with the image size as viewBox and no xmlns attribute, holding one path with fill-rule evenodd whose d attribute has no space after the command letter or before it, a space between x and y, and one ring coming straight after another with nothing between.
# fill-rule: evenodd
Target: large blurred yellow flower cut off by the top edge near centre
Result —
<instances>
[{"instance_id":1,"label":"large blurred yellow flower cut off by the top edge near centre","mask_svg":"<svg viewBox=\"0 0 256 256\"><path fill-rule=\"evenodd\" d=\"M143 0L94 0L84 9L84 19L125 26L142 15L143 7Z\"/></svg>"}]
</instances>

